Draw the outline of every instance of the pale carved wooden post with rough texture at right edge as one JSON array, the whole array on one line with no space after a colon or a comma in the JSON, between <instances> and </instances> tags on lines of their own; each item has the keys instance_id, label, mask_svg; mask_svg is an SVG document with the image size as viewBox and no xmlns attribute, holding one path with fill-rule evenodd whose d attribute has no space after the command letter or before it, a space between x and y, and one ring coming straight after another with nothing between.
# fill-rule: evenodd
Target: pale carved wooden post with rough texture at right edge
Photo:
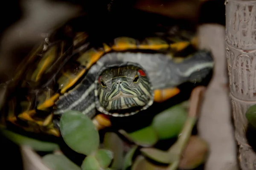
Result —
<instances>
[{"instance_id":1,"label":"pale carved wooden post with rough texture at right edge","mask_svg":"<svg viewBox=\"0 0 256 170\"><path fill-rule=\"evenodd\" d=\"M256 170L256 154L247 143L245 112L256 104L256 1L226 0L226 48L230 97L242 170Z\"/></svg>"}]
</instances>

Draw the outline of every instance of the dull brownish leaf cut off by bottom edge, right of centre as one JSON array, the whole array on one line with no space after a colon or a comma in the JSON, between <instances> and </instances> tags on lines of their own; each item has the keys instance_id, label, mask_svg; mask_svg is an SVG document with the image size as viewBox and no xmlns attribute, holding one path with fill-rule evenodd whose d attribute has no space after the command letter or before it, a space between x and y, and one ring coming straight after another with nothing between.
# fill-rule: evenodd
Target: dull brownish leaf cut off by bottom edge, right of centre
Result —
<instances>
[{"instance_id":1,"label":"dull brownish leaf cut off by bottom edge, right of centre","mask_svg":"<svg viewBox=\"0 0 256 170\"><path fill-rule=\"evenodd\" d=\"M166 170L166 167L154 165L147 161L143 156L137 156L131 170Z\"/></svg>"}]
</instances>

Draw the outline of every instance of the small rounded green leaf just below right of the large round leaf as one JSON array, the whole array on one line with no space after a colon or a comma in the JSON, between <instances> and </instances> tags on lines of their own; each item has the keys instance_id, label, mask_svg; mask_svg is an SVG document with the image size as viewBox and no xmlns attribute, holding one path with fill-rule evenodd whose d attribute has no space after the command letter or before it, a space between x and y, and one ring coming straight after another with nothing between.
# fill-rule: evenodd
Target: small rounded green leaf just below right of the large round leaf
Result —
<instances>
[{"instance_id":1,"label":"small rounded green leaf just below right of the large round leaf","mask_svg":"<svg viewBox=\"0 0 256 170\"><path fill-rule=\"evenodd\" d=\"M105 169L110 165L113 153L110 150L100 149L96 151L95 158L99 162L100 167Z\"/></svg>"}]
</instances>

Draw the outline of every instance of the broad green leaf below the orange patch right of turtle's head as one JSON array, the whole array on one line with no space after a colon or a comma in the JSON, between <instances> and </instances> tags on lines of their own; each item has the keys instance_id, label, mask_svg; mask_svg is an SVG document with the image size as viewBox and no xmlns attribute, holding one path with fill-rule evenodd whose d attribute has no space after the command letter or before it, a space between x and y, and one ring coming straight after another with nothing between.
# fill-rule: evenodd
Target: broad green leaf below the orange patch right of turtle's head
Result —
<instances>
[{"instance_id":1,"label":"broad green leaf below the orange patch right of turtle's head","mask_svg":"<svg viewBox=\"0 0 256 170\"><path fill-rule=\"evenodd\" d=\"M169 139L180 133L186 118L185 108L175 105L154 116L151 126L157 132L159 139Z\"/></svg>"}]
</instances>

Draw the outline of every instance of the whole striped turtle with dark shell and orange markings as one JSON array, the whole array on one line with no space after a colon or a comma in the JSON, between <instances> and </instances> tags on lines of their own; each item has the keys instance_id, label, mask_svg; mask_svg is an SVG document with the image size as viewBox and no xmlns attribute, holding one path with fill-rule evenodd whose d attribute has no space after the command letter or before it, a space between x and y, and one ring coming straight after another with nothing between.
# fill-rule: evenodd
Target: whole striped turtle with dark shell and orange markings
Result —
<instances>
[{"instance_id":1,"label":"whole striped turtle with dark shell and orange markings","mask_svg":"<svg viewBox=\"0 0 256 170\"><path fill-rule=\"evenodd\" d=\"M131 116L175 96L184 82L200 82L214 66L211 51L198 50L197 35L186 31L100 45L89 37L51 35L36 46L6 82L15 89L1 110L4 125L60 136L55 117L66 111Z\"/></svg>"}]
</instances>

